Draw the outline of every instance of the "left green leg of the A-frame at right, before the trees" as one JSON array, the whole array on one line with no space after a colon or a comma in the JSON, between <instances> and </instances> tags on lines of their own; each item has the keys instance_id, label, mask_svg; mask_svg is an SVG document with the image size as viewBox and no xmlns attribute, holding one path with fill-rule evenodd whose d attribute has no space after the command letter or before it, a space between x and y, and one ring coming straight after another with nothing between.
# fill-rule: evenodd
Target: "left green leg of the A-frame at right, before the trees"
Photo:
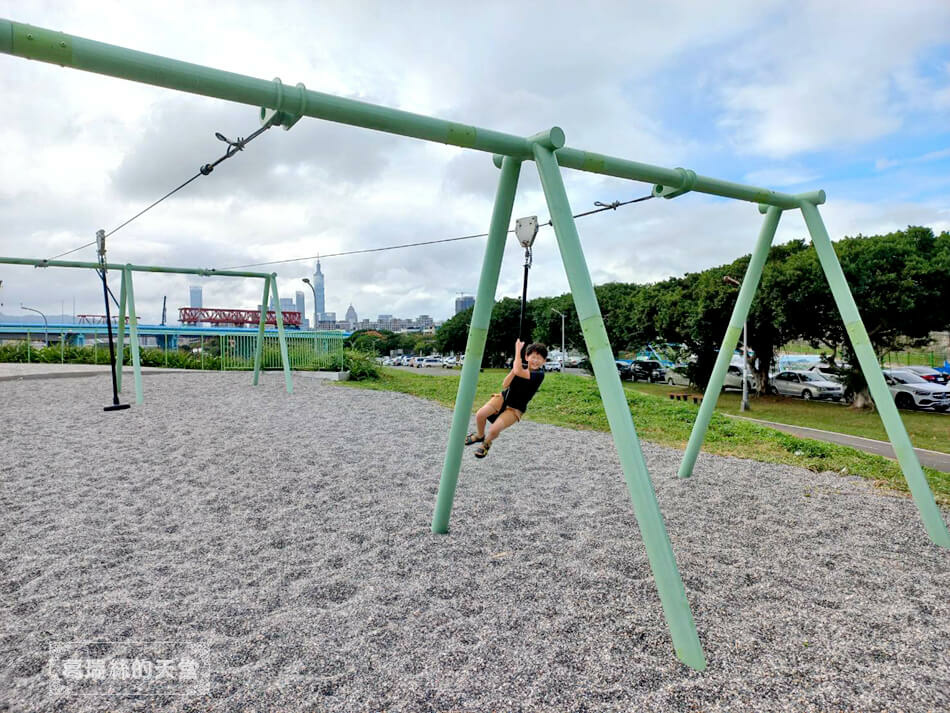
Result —
<instances>
[{"instance_id":1,"label":"left green leg of the A-frame at right, before the trees","mask_svg":"<svg viewBox=\"0 0 950 713\"><path fill-rule=\"evenodd\" d=\"M781 217L781 209L774 206L769 208L765 215L765 221L762 223L762 229L759 231L759 239L756 241L755 249L752 251L752 259L749 260L745 277L742 278L742 286L739 288L739 297L736 299L735 307L732 308L732 317L729 318L729 328L726 329L726 336L723 337L722 346L719 348L719 355L716 357L716 365L713 367L712 374L709 377L709 384L706 385L706 393L703 394L703 403L699 407L699 414L696 416L696 423L693 424L693 431L689 434L689 443L686 445L686 453L683 454L683 462L680 463L679 474L681 478L688 478L692 474L693 466L696 464L696 458L699 457L699 450L702 448L703 440L706 438L706 429L709 428L709 421L712 419L713 411L716 409L719 392L722 391L722 385L726 379L726 371L729 369L732 354L739 341L739 335L742 333L742 325L749 315L749 307L752 304L752 298L755 297L755 291L759 287L759 280L762 277L762 268L769 256L769 247L775 238L775 231L778 228L778 221Z\"/></svg>"}]
</instances>

